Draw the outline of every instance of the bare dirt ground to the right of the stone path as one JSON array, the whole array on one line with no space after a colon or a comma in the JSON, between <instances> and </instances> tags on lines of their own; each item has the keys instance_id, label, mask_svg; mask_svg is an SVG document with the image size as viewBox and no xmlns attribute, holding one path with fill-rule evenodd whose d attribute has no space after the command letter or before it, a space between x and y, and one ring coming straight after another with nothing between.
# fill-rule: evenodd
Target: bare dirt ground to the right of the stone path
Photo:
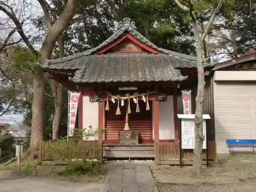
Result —
<instances>
[{"instance_id":1,"label":"bare dirt ground to the right of the stone path","mask_svg":"<svg viewBox=\"0 0 256 192\"><path fill-rule=\"evenodd\" d=\"M159 192L256 191L256 155L218 157L216 165L203 168L197 178L191 166L151 166Z\"/></svg>"}]
</instances>

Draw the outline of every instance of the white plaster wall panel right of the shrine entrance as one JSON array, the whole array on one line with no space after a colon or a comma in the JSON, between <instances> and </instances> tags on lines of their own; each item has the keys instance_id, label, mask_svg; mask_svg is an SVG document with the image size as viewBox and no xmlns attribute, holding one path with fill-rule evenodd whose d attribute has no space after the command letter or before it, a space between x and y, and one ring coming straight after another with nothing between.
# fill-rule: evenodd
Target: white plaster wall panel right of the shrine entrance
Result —
<instances>
[{"instance_id":1,"label":"white plaster wall panel right of the shrine entrance","mask_svg":"<svg viewBox=\"0 0 256 192\"><path fill-rule=\"evenodd\" d=\"M159 140L175 139L174 99L167 96L167 101L159 102ZM154 139L154 116L152 117Z\"/></svg>"}]
</instances>

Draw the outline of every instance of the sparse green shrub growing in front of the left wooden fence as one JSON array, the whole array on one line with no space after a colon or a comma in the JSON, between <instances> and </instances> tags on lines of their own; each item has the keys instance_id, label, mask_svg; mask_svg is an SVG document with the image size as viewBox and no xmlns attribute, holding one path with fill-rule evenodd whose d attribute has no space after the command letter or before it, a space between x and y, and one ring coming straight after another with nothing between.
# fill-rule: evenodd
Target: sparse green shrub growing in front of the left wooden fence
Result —
<instances>
[{"instance_id":1,"label":"sparse green shrub growing in front of the left wooden fence","mask_svg":"<svg viewBox=\"0 0 256 192\"><path fill-rule=\"evenodd\" d=\"M58 173L61 176L81 176L93 175L96 171L94 159L101 150L98 144L99 132L104 132L104 129L93 129L89 126L87 129L76 129L73 137L61 138L52 142L47 147L47 152L52 160L70 161L70 164L65 170ZM94 138L93 143L84 142ZM69 154L69 155L67 155ZM81 161L71 161L72 159L81 159Z\"/></svg>"}]
</instances>

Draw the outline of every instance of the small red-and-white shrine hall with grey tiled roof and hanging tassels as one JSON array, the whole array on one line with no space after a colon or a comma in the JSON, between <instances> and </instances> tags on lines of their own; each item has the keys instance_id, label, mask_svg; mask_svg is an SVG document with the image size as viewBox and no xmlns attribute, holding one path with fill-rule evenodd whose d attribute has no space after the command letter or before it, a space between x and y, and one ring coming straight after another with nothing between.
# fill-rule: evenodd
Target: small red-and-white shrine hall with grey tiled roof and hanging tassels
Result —
<instances>
[{"instance_id":1,"label":"small red-and-white shrine hall with grey tiled roof and hanging tassels","mask_svg":"<svg viewBox=\"0 0 256 192\"><path fill-rule=\"evenodd\" d=\"M104 157L155 157L155 145L178 142L177 97L197 86L196 57L157 47L127 17L99 46L41 68L81 93L78 129L106 129Z\"/></svg>"}]
</instances>

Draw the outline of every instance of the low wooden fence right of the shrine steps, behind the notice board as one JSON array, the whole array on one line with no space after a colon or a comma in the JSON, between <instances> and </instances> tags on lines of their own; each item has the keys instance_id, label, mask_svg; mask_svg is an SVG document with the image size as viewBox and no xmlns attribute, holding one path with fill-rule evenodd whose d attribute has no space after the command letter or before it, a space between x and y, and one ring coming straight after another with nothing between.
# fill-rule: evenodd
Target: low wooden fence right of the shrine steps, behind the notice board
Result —
<instances>
[{"instance_id":1,"label":"low wooden fence right of the shrine steps, behind the notice board","mask_svg":"<svg viewBox=\"0 0 256 192\"><path fill-rule=\"evenodd\" d=\"M157 164L180 164L180 144L175 142L158 143L156 148ZM208 159L215 161L217 158L216 142L208 143ZM182 150L182 163L193 164L193 150ZM206 150L203 150L203 161L206 161ZM203 162L204 163L204 162Z\"/></svg>"}]
</instances>

